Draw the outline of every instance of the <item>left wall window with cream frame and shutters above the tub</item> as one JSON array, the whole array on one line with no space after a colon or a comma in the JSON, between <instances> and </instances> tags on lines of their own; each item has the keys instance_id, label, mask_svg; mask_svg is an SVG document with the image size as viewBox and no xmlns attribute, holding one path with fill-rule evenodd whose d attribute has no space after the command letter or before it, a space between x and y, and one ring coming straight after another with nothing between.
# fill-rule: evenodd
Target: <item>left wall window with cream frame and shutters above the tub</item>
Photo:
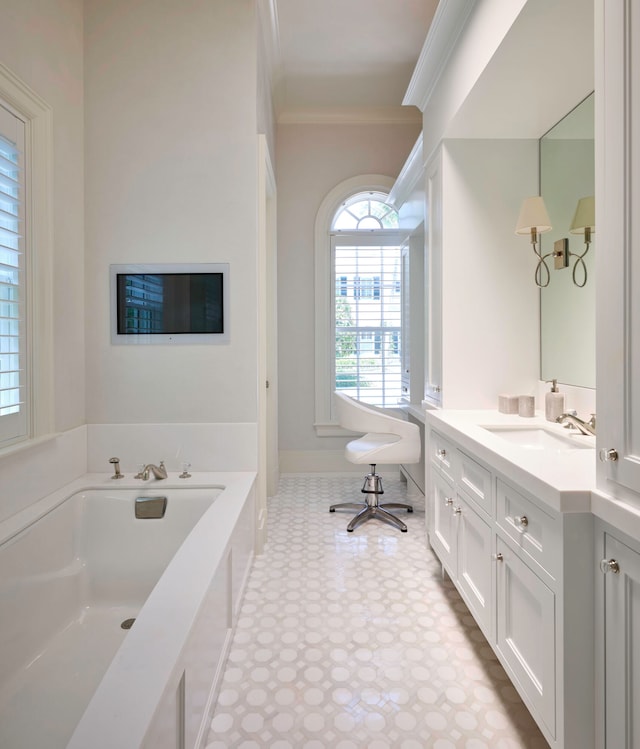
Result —
<instances>
[{"instance_id":1,"label":"left wall window with cream frame and shutters above the tub","mask_svg":"<svg viewBox=\"0 0 640 749\"><path fill-rule=\"evenodd\" d=\"M0 63L0 451L53 433L51 107Z\"/></svg>"}]
</instances>

